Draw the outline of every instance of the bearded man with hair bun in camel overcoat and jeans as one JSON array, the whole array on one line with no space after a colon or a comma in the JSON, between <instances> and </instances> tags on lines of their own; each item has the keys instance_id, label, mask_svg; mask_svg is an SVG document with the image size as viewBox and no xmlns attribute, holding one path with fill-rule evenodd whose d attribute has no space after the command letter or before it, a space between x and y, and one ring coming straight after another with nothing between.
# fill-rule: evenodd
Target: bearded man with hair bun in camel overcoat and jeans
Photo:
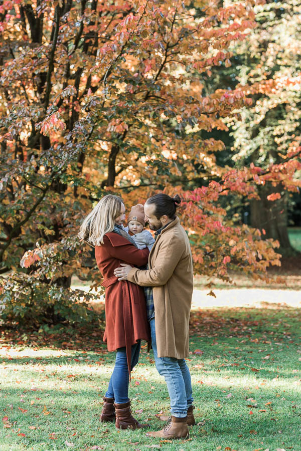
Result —
<instances>
[{"instance_id":1,"label":"bearded man with hair bun in camel overcoat and jeans","mask_svg":"<svg viewBox=\"0 0 301 451\"><path fill-rule=\"evenodd\" d=\"M171 398L171 413L164 429L147 432L150 437L186 438L195 424L191 378L185 357L189 355L189 315L193 291L193 267L187 234L176 216L178 195L149 197L145 220L155 230L156 241L148 258L148 270L121 264L114 274L144 287L153 287L147 297L156 368L165 377ZM166 420L167 417L160 417Z\"/></svg>"}]
</instances>

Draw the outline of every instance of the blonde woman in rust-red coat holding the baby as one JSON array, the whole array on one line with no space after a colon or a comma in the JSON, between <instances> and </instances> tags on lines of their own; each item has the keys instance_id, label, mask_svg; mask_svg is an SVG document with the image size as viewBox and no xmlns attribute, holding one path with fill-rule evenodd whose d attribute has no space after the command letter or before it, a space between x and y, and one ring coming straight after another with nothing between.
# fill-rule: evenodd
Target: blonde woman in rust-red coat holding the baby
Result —
<instances>
[{"instance_id":1,"label":"blonde woman in rust-red coat holding the baby","mask_svg":"<svg viewBox=\"0 0 301 451\"><path fill-rule=\"evenodd\" d=\"M120 263L142 266L149 251L137 249L122 222L125 207L120 197L104 196L84 219L78 237L95 246L97 266L105 287L106 327L103 340L115 351L116 362L103 398L100 421L115 421L116 428L147 427L133 418L128 398L130 371L137 364L140 340L149 341L149 326L143 289L127 281L118 282L114 269Z\"/></svg>"}]
</instances>

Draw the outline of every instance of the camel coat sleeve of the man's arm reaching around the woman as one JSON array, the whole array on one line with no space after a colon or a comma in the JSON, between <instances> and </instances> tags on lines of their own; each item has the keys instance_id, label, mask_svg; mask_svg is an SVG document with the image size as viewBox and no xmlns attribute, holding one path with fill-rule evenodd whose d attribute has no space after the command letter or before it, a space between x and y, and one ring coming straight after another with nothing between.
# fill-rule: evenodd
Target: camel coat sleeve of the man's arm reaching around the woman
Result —
<instances>
[{"instance_id":1,"label":"camel coat sleeve of the man's arm reaching around the woman","mask_svg":"<svg viewBox=\"0 0 301 451\"><path fill-rule=\"evenodd\" d=\"M127 280L142 287L162 286L172 276L183 255L184 249L180 243L172 245L174 234L167 241L160 243L157 258L150 270L133 268L127 275Z\"/></svg>"}]
</instances>

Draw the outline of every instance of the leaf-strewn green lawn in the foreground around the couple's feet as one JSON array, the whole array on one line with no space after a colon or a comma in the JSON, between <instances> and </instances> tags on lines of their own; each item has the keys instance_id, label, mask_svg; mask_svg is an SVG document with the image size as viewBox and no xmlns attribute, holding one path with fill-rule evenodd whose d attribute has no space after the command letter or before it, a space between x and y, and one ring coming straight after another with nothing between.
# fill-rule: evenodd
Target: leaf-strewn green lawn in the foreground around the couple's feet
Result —
<instances>
[{"instance_id":1,"label":"leaf-strewn green lawn in the foreground around the couple's feet","mask_svg":"<svg viewBox=\"0 0 301 451\"><path fill-rule=\"evenodd\" d=\"M98 331L3 330L0 449L300 451L300 313L273 306L192 313L188 365L198 425L183 441L99 422L114 353L106 352ZM143 347L130 397L136 418L156 430L164 423L155 414L169 411L169 397L152 357Z\"/></svg>"}]
</instances>

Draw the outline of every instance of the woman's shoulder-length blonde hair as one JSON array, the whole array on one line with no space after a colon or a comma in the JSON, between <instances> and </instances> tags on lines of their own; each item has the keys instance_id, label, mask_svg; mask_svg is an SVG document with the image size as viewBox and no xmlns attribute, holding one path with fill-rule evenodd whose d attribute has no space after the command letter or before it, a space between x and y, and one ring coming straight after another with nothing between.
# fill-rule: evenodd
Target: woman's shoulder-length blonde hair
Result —
<instances>
[{"instance_id":1,"label":"woman's shoulder-length blonde hair","mask_svg":"<svg viewBox=\"0 0 301 451\"><path fill-rule=\"evenodd\" d=\"M102 197L83 220L78 238L92 246L102 245L104 235L114 229L115 219L120 215L122 204L121 197L112 194Z\"/></svg>"}]
</instances>

